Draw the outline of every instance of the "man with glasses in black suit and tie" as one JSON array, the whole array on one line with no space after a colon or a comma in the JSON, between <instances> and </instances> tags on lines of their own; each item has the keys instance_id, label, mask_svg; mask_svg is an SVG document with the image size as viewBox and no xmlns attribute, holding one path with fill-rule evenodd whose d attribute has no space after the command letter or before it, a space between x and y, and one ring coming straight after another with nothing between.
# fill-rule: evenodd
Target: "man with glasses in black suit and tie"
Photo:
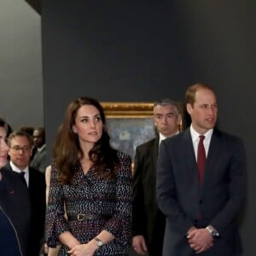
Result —
<instances>
[{"instance_id":1,"label":"man with glasses in black suit and tie","mask_svg":"<svg viewBox=\"0 0 256 256\"><path fill-rule=\"evenodd\" d=\"M29 255L38 255L44 239L45 178L44 174L29 166L32 155L32 137L25 131L15 131L9 136L10 172L23 173L32 207L32 230Z\"/></svg>"}]
</instances>

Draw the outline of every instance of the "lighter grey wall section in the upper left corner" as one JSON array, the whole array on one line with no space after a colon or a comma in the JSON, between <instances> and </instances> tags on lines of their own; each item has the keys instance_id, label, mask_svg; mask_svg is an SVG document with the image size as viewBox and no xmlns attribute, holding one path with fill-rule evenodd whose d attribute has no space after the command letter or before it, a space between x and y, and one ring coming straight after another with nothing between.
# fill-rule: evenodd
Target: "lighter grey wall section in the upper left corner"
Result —
<instances>
[{"instance_id":1,"label":"lighter grey wall section in the upper left corner","mask_svg":"<svg viewBox=\"0 0 256 256\"><path fill-rule=\"evenodd\" d=\"M13 129L44 126L41 17L25 1L0 1L0 116Z\"/></svg>"}]
</instances>

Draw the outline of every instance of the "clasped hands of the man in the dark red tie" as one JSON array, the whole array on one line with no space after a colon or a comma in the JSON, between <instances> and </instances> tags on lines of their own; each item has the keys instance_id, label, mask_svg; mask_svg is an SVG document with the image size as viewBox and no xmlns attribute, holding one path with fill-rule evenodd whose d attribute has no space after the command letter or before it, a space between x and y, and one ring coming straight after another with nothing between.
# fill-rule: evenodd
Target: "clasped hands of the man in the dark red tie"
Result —
<instances>
[{"instance_id":1,"label":"clasped hands of the man in the dark red tie","mask_svg":"<svg viewBox=\"0 0 256 256\"><path fill-rule=\"evenodd\" d=\"M213 245L213 238L206 229L190 230L187 238L190 247L195 250L195 253L207 251Z\"/></svg>"}]
</instances>

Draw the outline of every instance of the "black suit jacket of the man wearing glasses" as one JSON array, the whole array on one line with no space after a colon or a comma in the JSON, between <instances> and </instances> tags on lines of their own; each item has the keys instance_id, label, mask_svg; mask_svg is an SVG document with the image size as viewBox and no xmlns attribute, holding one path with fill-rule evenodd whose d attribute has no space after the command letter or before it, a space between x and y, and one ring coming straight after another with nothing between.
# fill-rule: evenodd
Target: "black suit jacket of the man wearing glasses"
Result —
<instances>
[{"instance_id":1,"label":"black suit jacket of the man wearing glasses","mask_svg":"<svg viewBox=\"0 0 256 256\"><path fill-rule=\"evenodd\" d=\"M6 166L12 171L11 166ZM38 170L29 167L28 193L31 201L32 229L30 239L30 255L38 255L44 239L44 218L45 218L45 177Z\"/></svg>"}]
</instances>

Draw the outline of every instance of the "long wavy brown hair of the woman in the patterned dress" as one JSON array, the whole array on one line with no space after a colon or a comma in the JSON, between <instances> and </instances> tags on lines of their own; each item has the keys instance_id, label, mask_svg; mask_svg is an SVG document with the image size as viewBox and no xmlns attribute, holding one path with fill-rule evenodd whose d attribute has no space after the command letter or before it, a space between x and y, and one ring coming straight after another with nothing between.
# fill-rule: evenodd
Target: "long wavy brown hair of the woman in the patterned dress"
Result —
<instances>
[{"instance_id":1,"label":"long wavy brown hair of the woman in the patterned dress","mask_svg":"<svg viewBox=\"0 0 256 256\"><path fill-rule=\"evenodd\" d=\"M97 108L103 123L102 137L89 152L90 160L96 167L96 172L102 178L111 178L115 176L116 168L119 166L117 150L113 149L109 143L110 137L106 131L106 118L101 104L93 98L80 97L67 107L65 118L57 132L53 146L53 158L60 173L59 181L61 183L70 183L76 170L75 167L79 164L79 159L84 157L78 134L73 132L73 125L79 108L84 105L92 105Z\"/></svg>"}]
</instances>

